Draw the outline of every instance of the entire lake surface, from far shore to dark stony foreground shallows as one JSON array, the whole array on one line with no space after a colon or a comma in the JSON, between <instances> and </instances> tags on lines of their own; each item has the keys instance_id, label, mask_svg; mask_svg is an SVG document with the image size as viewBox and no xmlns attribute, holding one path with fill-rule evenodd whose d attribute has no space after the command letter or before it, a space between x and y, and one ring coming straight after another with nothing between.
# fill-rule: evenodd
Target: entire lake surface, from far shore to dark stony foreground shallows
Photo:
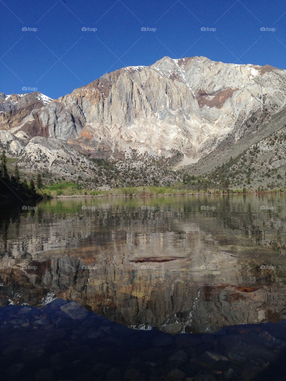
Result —
<instances>
[{"instance_id":1,"label":"entire lake surface, from far shore to dark stony foreground shallows","mask_svg":"<svg viewBox=\"0 0 286 381\"><path fill-rule=\"evenodd\" d=\"M4 379L285 379L285 206L268 194L3 207Z\"/></svg>"}]
</instances>

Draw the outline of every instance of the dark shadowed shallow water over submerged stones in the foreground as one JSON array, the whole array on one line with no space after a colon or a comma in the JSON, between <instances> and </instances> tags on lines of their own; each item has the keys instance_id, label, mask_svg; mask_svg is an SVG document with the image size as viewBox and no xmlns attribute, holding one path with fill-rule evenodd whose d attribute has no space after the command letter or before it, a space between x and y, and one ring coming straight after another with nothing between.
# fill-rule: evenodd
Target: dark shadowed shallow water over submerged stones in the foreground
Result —
<instances>
[{"instance_id":1,"label":"dark shadowed shallow water over submerged stones in the foreground","mask_svg":"<svg viewBox=\"0 0 286 381\"><path fill-rule=\"evenodd\" d=\"M62 299L39 309L10 305L0 320L2 379L285 379L284 322L170 335L132 330Z\"/></svg>"}]
</instances>

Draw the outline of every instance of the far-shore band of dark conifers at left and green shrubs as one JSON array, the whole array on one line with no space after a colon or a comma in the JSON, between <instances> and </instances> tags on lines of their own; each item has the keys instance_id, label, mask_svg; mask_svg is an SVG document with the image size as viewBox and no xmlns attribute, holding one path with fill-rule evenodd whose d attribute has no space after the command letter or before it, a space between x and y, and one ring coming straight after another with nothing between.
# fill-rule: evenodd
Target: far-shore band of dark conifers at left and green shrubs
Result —
<instances>
[{"instance_id":1,"label":"far-shore band of dark conifers at left and green shrubs","mask_svg":"<svg viewBox=\"0 0 286 381\"><path fill-rule=\"evenodd\" d=\"M14 159L13 159L14 160ZM125 196L156 196L156 195L221 195L221 194L264 194L264 193L284 193L286 188L280 189L252 189L250 186L243 189L230 189L230 183L227 179L223 181L209 183L207 178L202 176L183 176L183 181L176 181L172 186L130 186L116 187L102 186L99 189L90 189L90 182L84 182L78 179L78 182L72 181L53 181L49 178L43 179L41 173L38 173L35 181L33 177L21 179L18 163L14 162L13 173L7 164L11 162L6 158L5 150L0 155L0 197L3 199L34 199L57 198L57 197L125 197ZM8 170L10 169L10 173ZM82 181L80 183L79 181ZM88 187L88 186L89 187ZM217 188L215 188L217 186ZM104 189L105 188L105 189Z\"/></svg>"}]
</instances>

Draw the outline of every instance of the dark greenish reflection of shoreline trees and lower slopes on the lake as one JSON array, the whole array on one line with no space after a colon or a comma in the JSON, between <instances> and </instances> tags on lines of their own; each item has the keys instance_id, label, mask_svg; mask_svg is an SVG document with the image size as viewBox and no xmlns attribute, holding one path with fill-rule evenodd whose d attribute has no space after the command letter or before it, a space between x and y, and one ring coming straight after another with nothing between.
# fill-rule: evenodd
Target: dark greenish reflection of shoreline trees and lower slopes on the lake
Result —
<instances>
[{"instance_id":1,"label":"dark greenish reflection of shoreline trees and lower slopes on the lake","mask_svg":"<svg viewBox=\"0 0 286 381\"><path fill-rule=\"evenodd\" d=\"M286 229L285 209L277 205L275 211L261 211L261 203L272 205L275 196L257 197L221 196L162 197L130 199L88 200L97 206L96 211L82 211L82 201L51 200L38 203L37 211L4 210L1 233L5 245L3 251L13 252L18 240L22 251L52 250L56 242L79 247L85 243L102 245L111 240L125 240L127 235L174 232L183 235L194 229L209 232L217 239L231 242L243 234L244 239L260 245L280 249L284 252ZM273 201L274 200L274 201ZM87 201L85 201L87 202ZM142 203L156 205L156 210L141 210ZM271 204L272 203L272 204ZM213 211L201 211L201 205L215 206ZM195 225L195 227L194 227ZM29 245L27 243L29 242ZM53 243L53 244L51 244ZM3 242L2 242L3 245ZM17 251L17 250L16 250Z\"/></svg>"}]
</instances>

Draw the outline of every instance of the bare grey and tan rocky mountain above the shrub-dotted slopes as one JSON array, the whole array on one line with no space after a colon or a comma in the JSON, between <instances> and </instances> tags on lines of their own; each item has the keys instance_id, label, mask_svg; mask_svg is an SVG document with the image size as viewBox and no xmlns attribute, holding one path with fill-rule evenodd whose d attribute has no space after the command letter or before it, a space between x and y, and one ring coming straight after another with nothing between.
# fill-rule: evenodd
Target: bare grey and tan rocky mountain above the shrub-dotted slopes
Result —
<instances>
[{"instance_id":1,"label":"bare grey and tan rocky mountain above the shrub-dotted slopes","mask_svg":"<svg viewBox=\"0 0 286 381\"><path fill-rule=\"evenodd\" d=\"M286 70L164 57L104 74L56 100L0 93L0 128L7 131L0 139L11 155L23 146L19 139L42 136L90 157L147 153L206 173L229 160L226 152L239 155L282 128L285 96Z\"/></svg>"}]
</instances>

